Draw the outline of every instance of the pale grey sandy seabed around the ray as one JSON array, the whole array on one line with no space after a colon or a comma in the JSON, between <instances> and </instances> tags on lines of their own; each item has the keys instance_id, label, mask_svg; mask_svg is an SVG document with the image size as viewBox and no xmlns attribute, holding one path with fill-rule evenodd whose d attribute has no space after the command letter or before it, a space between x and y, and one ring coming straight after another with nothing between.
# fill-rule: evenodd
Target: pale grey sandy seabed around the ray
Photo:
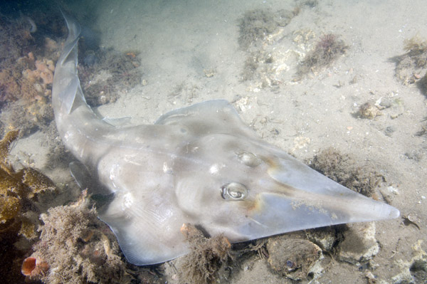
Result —
<instances>
[{"instance_id":1,"label":"pale grey sandy seabed around the ray","mask_svg":"<svg viewBox=\"0 0 427 284\"><path fill-rule=\"evenodd\" d=\"M310 159L334 147L359 161L369 161L386 178L381 193L402 216L416 218L419 227L404 225L402 218L376 222L380 250L373 258L376 267L369 272L376 283L410 279L409 267L417 254L413 245L426 241L427 236L427 144L426 135L416 135L427 115L427 100L415 85L396 79L396 63L391 58L405 53L405 39L416 34L427 38L424 1L303 4L300 14L275 30L275 38L261 40L267 53L283 51L275 60L288 68L278 73L273 86L260 85L259 78L242 80L249 53L239 46L238 23L252 9L292 11L294 1L86 2L88 6L75 4L70 9L76 15L91 15L91 27L100 31L102 47L139 52L142 79L147 83L123 90L117 102L98 107L102 115L132 117L132 123L149 124L169 110L221 98L233 102L242 120L258 135L297 159ZM328 33L347 44L346 53L293 81L297 52L300 56L307 53ZM307 41L298 41L298 34L307 36ZM381 98L399 103L381 110L382 115L372 120L357 116L360 105ZM35 167L43 169L47 152L43 138L36 133L19 140L12 154L29 154ZM60 176L54 171L47 174L53 179ZM426 251L426 243L421 248ZM426 255L421 259L426 269ZM360 267L333 261L312 283L366 283L367 270ZM416 279L419 283L426 280ZM291 283L260 258L245 260L241 270L233 271L225 282Z\"/></svg>"}]
</instances>

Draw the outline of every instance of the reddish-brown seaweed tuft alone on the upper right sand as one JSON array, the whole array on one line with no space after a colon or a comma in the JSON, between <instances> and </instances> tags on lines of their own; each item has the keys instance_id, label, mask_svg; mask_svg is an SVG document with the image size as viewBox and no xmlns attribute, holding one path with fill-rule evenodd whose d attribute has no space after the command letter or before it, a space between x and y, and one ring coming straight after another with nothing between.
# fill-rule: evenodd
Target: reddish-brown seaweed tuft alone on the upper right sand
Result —
<instances>
[{"instance_id":1,"label":"reddish-brown seaweed tuft alone on the upper right sand","mask_svg":"<svg viewBox=\"0 0 427 284\"><path fill-rule=\"evenodd\" d=\"M345 53L348 46L333 33L320 37L315 48L302 61L298 73L300 75L317 71L331 65L339 56Z\"/></svg>"}]
</instances>

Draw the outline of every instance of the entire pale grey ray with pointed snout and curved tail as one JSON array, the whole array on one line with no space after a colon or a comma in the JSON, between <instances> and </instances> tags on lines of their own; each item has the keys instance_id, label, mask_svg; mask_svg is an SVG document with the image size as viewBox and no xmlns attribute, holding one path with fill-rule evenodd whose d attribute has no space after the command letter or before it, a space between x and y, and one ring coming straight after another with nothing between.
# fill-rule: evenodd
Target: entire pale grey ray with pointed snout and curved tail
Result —
<instances>
[{"instance_id":1,"label":"entire pale grey ray with pointed snout and curved tail","mask_svg":"<svg viewBox=\"0 0 427 284\"><path fill-rule=\"evenodd\" d=\"M231 242L338 223L399 216L263 142L225 100L173 110L154 125L116 127L86 104L77 74L80 26L53 80L53 109L65 146L114 193L100 214L131 263L188 252L183 223Z\"/></svg>"}]
</instances>

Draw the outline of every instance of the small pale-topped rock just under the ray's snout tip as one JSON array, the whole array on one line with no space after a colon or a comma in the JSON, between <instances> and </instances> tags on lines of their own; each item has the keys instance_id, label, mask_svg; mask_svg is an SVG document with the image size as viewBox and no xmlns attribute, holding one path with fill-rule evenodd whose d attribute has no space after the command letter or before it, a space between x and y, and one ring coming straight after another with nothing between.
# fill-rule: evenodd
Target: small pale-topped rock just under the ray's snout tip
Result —
<instances>
[{"instance_id":1,"label":"small pale-topped rock just under the ray's snout tip","mask_svg":"<svg viewBox=\"0 0 427 284\"><path fill-rule=\"evenodd\" d=\"M358 265L369 261L379 252L375 238L375 223L349 223L344 241L339 243L339 260Z\"/></svg>"}]
</instances>

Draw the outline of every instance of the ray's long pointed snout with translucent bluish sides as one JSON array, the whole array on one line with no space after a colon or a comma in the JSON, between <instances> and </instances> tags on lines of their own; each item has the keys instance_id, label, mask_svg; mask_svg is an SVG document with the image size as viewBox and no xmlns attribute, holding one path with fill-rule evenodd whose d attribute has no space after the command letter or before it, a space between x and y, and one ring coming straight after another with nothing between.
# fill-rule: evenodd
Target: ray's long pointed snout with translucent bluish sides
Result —
<instances>
[{"instance_id":1,"label":"ray's long pointed snout with translucent bluish sides","mask_svg":"<svg viewBox=\"0 0 427 284\"><path fill-rule=\"evenodd\" d=\"M260 238L340 223L399 217L398 209L338 184L292 157L268 162L269 180L241 233Z\"/></svg>"}]
</instances>

